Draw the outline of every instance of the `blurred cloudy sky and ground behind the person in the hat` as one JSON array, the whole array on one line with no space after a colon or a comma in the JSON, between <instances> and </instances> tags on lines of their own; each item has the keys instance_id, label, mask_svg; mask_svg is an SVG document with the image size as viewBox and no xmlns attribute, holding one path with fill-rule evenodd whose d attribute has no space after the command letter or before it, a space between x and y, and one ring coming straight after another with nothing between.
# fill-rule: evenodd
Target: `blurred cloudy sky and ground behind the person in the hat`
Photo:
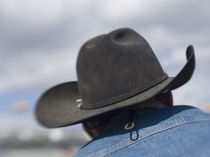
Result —
<instances>
[{"instance_id":1,"label":"blurred cloudy sky and ground behind the person in the hat","mask_svg":"<svg viewBox=\"0 0 210 157\"><path fill-rule=\"evenodd\" d=\"M169 76L194 45L194 76L174 101L209 112L209 19L208 0L0 0L0 157L70 157L90 140L81 125L43 128L34 109L49 87L77 80L84 42L116 28L145 37Z\"/></svg>"}]
</instances>

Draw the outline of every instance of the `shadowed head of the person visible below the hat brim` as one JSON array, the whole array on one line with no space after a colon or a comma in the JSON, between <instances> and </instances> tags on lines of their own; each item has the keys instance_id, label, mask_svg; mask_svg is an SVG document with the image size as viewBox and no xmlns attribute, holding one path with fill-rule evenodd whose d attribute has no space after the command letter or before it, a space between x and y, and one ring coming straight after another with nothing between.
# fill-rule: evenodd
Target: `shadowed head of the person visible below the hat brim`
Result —
<instances>
[{"instance_id":1,"label":"shadowed head of the person visible below the hat brim","mask_svg":"<svg viewBox=\"0 0 210 157\"><path fill-rule=\"evenodd\" d=\"M168 106L173 106L173 96L171 91L162 92L156 97L143 103L136 104L128 109L87 120L83 122L82 125L88 135L91 138L95 138L115 124L130 120L133 111L136 111L138 115L141 115Z\"/></svg>"}]
</instances>

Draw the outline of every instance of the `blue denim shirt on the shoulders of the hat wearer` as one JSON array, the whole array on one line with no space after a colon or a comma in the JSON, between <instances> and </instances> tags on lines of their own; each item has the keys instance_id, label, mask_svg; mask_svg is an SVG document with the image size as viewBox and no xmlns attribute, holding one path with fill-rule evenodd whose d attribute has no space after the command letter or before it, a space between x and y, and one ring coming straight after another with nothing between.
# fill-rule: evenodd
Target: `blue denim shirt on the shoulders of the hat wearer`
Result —
<instances>
[{"instance_id":1,"label":"blue denim shirt on the shoulders of the hat wearer","mask_svg":"<svg viewBox=\"0 0 210 157\"><path fill-rule=\"evenodd\" d=\"M134 123L131 131L124 129L126 123L111 128L75 157L210 157L210 114L197 108L168 107Z\"/></svg>"}]
</instances>

